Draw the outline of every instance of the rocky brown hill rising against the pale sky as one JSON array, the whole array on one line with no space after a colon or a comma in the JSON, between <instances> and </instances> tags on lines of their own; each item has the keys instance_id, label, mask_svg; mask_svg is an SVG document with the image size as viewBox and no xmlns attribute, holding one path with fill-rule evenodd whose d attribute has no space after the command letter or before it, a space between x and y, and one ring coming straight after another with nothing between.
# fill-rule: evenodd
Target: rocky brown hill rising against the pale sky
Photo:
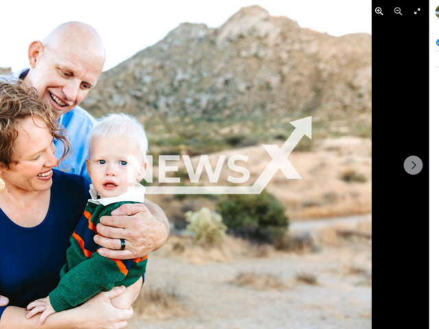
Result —
<instances>
[{"instance_id":1,"label":"rocky brown hill rising against the pale sky","mask_svg":"<svg viewBox=\"0 0 439 329\"><path fill-rule=\"evenodd\" d=\"M143 123L205 127L244 120L264 132L278 125L291 131L288 121L313 115L322 132L368 136L371 36L329 36L254 5L218 28L182 23L102 73L82 104L96 117L128 112ZM230 135L223 128L217 133Z\"/></svg>"}]
</instances>

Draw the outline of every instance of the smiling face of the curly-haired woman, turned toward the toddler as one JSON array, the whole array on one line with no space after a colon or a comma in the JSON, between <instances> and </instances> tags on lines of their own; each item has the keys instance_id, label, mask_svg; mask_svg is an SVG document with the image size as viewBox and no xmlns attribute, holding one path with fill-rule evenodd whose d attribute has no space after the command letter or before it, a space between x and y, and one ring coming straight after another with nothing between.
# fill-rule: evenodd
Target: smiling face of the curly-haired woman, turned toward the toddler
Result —
<instances>
[{"instance_id":1,"label":"smiling face of the curly-haired woman, turned toward the toddler","mask_svg":"<svg viewBox=\"0 0 439 329\"><path fill-rule=\"evenodd\" d=\"M13 155L17 163L10 169L0 167L0 178L10 191L46 191L52 185L52 167L58 165L54 137L38 117L23 119L18 132Z\"/></svg>"}]
</instances>

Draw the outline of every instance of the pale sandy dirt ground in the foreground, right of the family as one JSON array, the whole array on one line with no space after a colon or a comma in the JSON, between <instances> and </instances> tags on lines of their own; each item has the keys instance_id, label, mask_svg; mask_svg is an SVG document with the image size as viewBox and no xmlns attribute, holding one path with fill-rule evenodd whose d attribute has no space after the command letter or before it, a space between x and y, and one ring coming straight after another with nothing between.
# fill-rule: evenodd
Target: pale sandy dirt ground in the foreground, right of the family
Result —
<instances>
[{"instance_id":1,"label":"pale sandy dirt ground in the foreground, right of the family","mask_svg":"<svg viewBox=\"0 0 439 329\"><path fill-rule=\"evenodd\" d=\"M358 243L202 265L153 253L147 282L175 287L187 312L163 321L137 317L128 328L371 328L370 270L370 245ZM287 287L257 290L230 283L248 272L270 273ZM297 282L298 273L315 275L318 284Z\"/></svg>"}]
</instances>

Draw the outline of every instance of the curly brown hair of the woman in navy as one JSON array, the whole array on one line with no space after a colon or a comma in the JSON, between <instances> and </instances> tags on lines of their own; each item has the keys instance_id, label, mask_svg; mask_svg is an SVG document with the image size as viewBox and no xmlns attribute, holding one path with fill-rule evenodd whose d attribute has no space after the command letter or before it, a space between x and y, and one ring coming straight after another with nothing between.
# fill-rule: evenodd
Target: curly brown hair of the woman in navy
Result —
<instances>
[{"instance_id":1,"label":"curly brown hair of the woman in navy","mask_svg":"<svg viewBox=\"0 0 439 329\"><path fill-rule=\"evenodd\" d=\"M71 143L64 127L57 121L59 115L47 103L40 101L35 88L29 88L22 80L0 80L0 166L10 169L11 163L18 163L14 160L14 141L19 136L20 121L27 117L43 120L50 134L62 142L62 163L71 154Z\"/></svg>"}]
</instances>

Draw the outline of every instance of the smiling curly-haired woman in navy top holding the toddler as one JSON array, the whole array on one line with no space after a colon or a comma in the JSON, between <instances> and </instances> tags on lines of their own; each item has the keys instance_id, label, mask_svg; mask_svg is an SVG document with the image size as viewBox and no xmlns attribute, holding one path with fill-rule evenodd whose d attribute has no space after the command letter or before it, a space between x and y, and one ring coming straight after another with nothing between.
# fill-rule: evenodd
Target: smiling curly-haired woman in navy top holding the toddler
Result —
<instances>
[{"instance_id":1,"label":"smiling curly-haired woman in navy top holding the toddler","mask_svg":"<svg viewBox=\"0 0 439 329\"><path fill-rule=\"evenodd\" d=\"M0 307L0 329L38 328L36 317L25 318L25 306L58 284L69 237L89 197L84 178L52 171L58 165L54 138L64 145L61 160L70 149L55 116L34 89L0 82L0 295L10 298L10 306ZM128 289L121 295L123 290L95 295L45 326L123 328L137 295ZM112 297L128 309L112 307Z\"/></svg>"}]
</instances>

